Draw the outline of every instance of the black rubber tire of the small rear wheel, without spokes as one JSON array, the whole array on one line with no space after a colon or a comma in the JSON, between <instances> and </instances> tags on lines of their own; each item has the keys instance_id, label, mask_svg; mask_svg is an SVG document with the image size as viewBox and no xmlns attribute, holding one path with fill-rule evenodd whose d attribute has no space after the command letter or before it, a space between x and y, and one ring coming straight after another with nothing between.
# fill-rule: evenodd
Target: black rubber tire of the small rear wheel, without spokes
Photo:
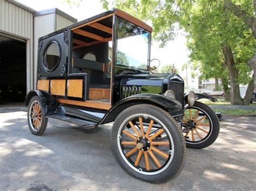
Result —
<instances>
[{"instance_id":1,"label":"black rubber tire of the small rear wheel, without spokes","mask_svg":"<svg viewBox=\"0 0 256 191\"><path fill-rule=\"evenodd\" d=\"M43 104L40 100L40 98L38 96L34 96L31 98L30 102L29 102L29 107L28 107L28 125L29 125L29 130L31 131L31 133L33 135L37 135L37 136L41 136L44 134L44 131L46 129L46 126L47 126L47 123L48 123L48 118L44 116L44 114L42 114L42 122L41 122L41 126L39 127L39 130L38 131L35 131L32 129L31 127L31 123L30 123L30 116L29 116L29 110L30 110L30 107L31 107L31 104L34 102L34 101L37 101L40 105L41 108L43 108ZM43 112L42 112L43 113Z\"/></svg>"}]
</instances>

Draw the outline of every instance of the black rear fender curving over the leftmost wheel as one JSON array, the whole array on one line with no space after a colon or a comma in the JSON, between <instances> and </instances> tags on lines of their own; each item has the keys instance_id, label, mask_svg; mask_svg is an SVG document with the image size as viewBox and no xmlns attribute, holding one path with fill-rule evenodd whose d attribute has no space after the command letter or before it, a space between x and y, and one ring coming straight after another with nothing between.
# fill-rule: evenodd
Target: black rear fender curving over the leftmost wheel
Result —
<instances>
[{"instance_id":1,"label":"black rear fender curving over the leftmost wheel","mask_svg":"<svg viewBox=\"0 0 256 191\"><path fill-rule=\"evenodd\" d=\"M26 95L25 105L28 106L32 97L38 96L43 104L43 114L44 116L53 115L55 108L59 105L59 102L49 94L47 91L44 90L31 90L29 91L28 95Z\"/></svg>"}]
</instances>

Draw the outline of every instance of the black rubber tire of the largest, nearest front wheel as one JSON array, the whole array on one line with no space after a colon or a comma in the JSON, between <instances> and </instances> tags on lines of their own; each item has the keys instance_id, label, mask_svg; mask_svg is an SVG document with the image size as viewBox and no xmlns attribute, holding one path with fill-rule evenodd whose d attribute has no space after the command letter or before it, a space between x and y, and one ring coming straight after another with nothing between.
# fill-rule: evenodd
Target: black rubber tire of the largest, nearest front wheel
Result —
<instances>
[{"instance_id":1,"label":"black rubber tire of the largest, nearest front wheel","mask_svg":"<svg viewBox=\"0 0 256 191\"><path fill-rule=\"evenodd\" d=\"M122 155L119 152L117 143L118 130L119 128L123 128L121 127L121 125L125 121L125 119L134 114L148 114L154 116L166 126L167 130L172 136L174 144L174 154L171 164L159 174L145 175L135 171L126 164L126 162L122 158ZM111 133L111 148L114 158L127 173L134 176L135 178L151 183L163 183L176 178L176 176L180 174L181 169L184 166L186 155L185 139L177 122L163 109L149 104L134 105L125 109L117 116L116 120L114 121Z\"/></svg>"}]
</instances>

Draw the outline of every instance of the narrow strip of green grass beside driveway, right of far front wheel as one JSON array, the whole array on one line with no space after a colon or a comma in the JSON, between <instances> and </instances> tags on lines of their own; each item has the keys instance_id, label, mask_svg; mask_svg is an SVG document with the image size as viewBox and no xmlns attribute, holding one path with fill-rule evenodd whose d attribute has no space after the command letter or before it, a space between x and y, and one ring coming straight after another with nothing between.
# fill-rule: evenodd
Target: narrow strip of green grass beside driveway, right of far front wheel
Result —
<instances>
[{"instance_id":1,"label":"narrow strip of green grass beside driveway, right of far front wheel","mask_svg":"<svg viewBox=\"0 0 256 191\"><path fill-rule=\"evenodd\" d=\"M222 115L230 115L230 116L254 116L256 115L255 110L245 110L245 109L220 109L220 108L212 108L215 112L221 112Z\"/></svg>"}]
</instances>

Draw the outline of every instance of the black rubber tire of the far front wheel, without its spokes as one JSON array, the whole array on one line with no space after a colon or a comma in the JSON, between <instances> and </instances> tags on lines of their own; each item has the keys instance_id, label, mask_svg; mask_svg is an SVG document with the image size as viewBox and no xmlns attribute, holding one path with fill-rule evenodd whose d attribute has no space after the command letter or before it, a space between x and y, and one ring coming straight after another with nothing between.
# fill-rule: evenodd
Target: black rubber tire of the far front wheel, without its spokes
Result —
<instances>
[{"instance_id":1,"label":"black rubber tire of the far front wheel, without its spokes","mask_svg":"<svg viewBox=\"0 0 256 191\"><path fill-rule=\"evenodd\" d=\"M187 109L190 109L190 108L191 109L200 108L201 110L206 112L206 114L212 121L212 132L211 132L210 137L208 137L204 142L201 142L201 143L191 144L191 143L187 142L185 139L186 146L188 148L197 148L197 149L208 147L215 142L215 140L217 139L217 137L219 135L220 125L219 125L218 116L215 114L215 112L210 107L208 107L208 105L201 103L201 102L195 102L192 107L188 107Z\"/></svg>"}]
</instances>

